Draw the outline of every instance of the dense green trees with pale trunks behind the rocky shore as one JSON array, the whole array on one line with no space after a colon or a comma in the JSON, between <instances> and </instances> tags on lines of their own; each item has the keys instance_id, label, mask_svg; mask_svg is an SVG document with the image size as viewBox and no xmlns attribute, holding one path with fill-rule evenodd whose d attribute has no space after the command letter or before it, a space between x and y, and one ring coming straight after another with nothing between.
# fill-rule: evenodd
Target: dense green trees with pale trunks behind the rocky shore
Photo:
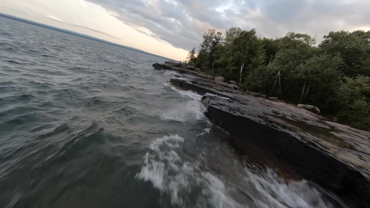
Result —
<instances>
[{"instance_id":1,"label":"dense green trees with pale trunks behind the rocky shore","mask_svg":"<svg viewBox=\"0 0 370 208\"><path fill-rule=\"evenodd\" d=\"M339 123L370 130L370 31L316 37L287 33L260 38L256 30L208 30L187 63L238 81L244 90L309 104Z\"/></svg>"}]
</instances>

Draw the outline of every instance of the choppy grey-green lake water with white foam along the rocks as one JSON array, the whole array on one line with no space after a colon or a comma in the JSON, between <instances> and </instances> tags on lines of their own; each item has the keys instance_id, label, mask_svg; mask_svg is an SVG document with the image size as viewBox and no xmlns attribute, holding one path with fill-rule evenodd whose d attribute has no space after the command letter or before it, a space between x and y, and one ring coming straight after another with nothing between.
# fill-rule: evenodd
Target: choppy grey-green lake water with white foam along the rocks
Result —
<instances>
[{"instance_id":1,"label":"choppy grey-green lake water with white foam along the rocks","mask_svg":"<svg viewBox=\"0 0 370 208\"><path fill-rule=\"evenodd\" d=\"M236 154L163 61L0 18L0 207L333 207Z\"/></svg>"}]
</instances>

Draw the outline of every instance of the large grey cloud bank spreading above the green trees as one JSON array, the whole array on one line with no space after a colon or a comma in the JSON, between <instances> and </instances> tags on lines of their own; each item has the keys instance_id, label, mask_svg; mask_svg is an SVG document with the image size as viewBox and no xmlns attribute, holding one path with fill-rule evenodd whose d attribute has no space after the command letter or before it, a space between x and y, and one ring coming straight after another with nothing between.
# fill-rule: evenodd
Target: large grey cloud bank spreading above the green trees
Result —
<instances>
[{"instance_id":1,"label":"large grey cloud bank spreading above the green trees","mask_svg":"<svg viewBox=\"0 0 370 208\"><path fill-rule=\"evenodd\" d=\"M135 30L190 50L209 28L256 28L263 37L289 31L322 36L370 27L369 0L87 0Z\"/></svg>"}]
</instances>

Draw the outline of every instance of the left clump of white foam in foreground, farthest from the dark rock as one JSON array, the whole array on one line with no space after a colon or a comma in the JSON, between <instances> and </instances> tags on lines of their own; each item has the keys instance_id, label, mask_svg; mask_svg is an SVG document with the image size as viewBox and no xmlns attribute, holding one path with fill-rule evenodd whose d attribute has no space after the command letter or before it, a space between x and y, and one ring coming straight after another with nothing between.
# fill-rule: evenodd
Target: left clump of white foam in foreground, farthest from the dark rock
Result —
<instances>
[{"instance_id":1,"label":"left clump of white foam in foreground, farthest from the dark rock","mask_svg":"<svg viewBox=\"0 0 370 208\"><path fill-rule=\"evenodd\" d=\"M157 138L144 157L136 178L150 181L161 192L171 196L172 204L188 207L190 196L198 196L197 207L243 207L228 194L224 182L209 171L201 171L199 161L185 161L176 151L185 140L178 135Z\"/></svg>"}]
</instances>

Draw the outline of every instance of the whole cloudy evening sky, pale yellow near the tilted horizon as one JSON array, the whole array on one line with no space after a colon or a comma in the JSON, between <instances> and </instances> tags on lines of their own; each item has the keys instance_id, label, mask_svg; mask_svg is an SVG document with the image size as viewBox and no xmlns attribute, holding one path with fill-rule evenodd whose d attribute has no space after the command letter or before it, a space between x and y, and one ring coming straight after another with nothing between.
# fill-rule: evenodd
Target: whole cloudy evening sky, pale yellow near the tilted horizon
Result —
<instances>
[{"instance_id":1,"label":"whole cloudy evening sky, pale yellow near the tilted horizon","mask_svg":"<svg viewBox=\"0 0 370 208\"><path fill-rule=\"evenodd\" d=\"M185 60L210 28L256 28L260 37L293 31L370 30L370 0L0 0L0 12Z\"/></svg>"}]
</instances>

